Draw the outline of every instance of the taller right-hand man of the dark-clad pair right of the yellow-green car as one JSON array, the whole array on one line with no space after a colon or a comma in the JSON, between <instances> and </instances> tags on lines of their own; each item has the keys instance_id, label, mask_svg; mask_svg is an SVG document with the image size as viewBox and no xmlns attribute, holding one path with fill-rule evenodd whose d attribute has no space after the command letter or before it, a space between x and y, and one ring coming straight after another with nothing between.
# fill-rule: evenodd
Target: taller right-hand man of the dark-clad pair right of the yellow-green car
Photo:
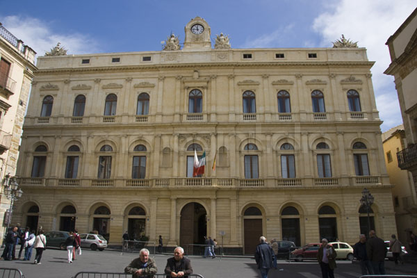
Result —
<instances>
[{"instance_id":1,"label":"taller right-hand man of the dark-clad pair right of the yellow-green car","mask_svg":"<svg viewBox=\"0 0 417 278\"><path fill-rule=\"evenodd\" d=\"M378 238L374 230L370 230L369 239L366 242L366 255L372 265L374 275L385 275L386 252L384 240Z\"/></svg>"}]
</instances>

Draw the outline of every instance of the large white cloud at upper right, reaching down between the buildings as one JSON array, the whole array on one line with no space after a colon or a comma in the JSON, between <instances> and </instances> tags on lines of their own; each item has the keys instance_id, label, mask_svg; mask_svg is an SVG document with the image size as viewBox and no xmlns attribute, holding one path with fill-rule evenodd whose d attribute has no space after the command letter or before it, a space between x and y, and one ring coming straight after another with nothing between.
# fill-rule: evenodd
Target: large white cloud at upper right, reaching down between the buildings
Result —
<instances>
[{"instance_id":1,"label":"large white cloud at upper right, reaching down between the buildings","mask_svg":"<svg viewBox=\"0 0 417 278\"><path fill-rule=\"evenodd\" d=\"M391 63L385 42L413 12L416 1L341 0L326 8L313 24L314 30L322 35L322 46L328 47L344 34L345 38L359 41L359 47L366 47L369 60L376 61L371 71L379 116L384 120L382 130L401 124L393 76L383 73Z\"/></svg>"}]
</instances>

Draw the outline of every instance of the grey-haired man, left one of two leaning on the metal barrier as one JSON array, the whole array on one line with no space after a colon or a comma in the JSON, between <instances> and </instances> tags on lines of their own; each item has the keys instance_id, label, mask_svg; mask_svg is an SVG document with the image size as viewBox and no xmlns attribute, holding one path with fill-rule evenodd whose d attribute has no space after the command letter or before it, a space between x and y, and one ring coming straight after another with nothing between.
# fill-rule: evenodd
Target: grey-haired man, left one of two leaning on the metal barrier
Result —
<instances>
[{"instance_id":1,"label":"grey-haired man, left one of two leaning on the metal barrier","mask_svg":"<svg viewBox=\"0 0 417 278\"><path fill-rule=\"evenodd\" d=\"M129 273L133 278L153 278L158 272L154 259L149 258L149 250L143 248L139 252L139 258L134 259L124 268L124 273Z\"/></svg>"}]
</instances>

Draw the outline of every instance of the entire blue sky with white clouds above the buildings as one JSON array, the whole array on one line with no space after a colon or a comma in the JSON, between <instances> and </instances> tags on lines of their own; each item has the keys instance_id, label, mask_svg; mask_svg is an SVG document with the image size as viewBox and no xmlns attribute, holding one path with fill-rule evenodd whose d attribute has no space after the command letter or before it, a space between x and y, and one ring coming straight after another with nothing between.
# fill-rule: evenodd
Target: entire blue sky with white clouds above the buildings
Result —
<instances>
[{"instance_id":1,"label":"entire blue sky with white clouds above the buildings","mask_svg":"<svg viewBox=\"0 0 417 278\"><path fill-rule=\"evenodd\" d=\"M376 61L373 85L386 131L402 123L385 42L416 8L416 0L6 1L0 22L38 56L56 45L68 54L158 51L170 33L183 42L193 17L206 19L212 38L233 48L332 47L344 34Z\"/></svg>"}]
</instances>

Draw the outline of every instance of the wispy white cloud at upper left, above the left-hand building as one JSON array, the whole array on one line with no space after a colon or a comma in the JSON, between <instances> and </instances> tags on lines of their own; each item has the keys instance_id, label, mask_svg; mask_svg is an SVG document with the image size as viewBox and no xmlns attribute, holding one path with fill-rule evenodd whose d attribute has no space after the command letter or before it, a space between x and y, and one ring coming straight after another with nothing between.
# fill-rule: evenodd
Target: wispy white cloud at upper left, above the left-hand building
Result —
<instances>
[{"instance_id":1,"label":"wispy white cloud at upper left, above the left-hand building","mask_svg":"<svg viewBox=\"0 0 417 278\"><path fill-rule=\"evenodd\" d=\"M67 49L67 54L87 54L99 52L97 42L88 35L80 33L54 33L49 27L51 23L43 22L33 17L18 17L16 15L4 17L3 26L13 33L24 44L37 52L37 56L44 56L46 51L55 47L57 42Z\"/></svg>"}]
</instances>

